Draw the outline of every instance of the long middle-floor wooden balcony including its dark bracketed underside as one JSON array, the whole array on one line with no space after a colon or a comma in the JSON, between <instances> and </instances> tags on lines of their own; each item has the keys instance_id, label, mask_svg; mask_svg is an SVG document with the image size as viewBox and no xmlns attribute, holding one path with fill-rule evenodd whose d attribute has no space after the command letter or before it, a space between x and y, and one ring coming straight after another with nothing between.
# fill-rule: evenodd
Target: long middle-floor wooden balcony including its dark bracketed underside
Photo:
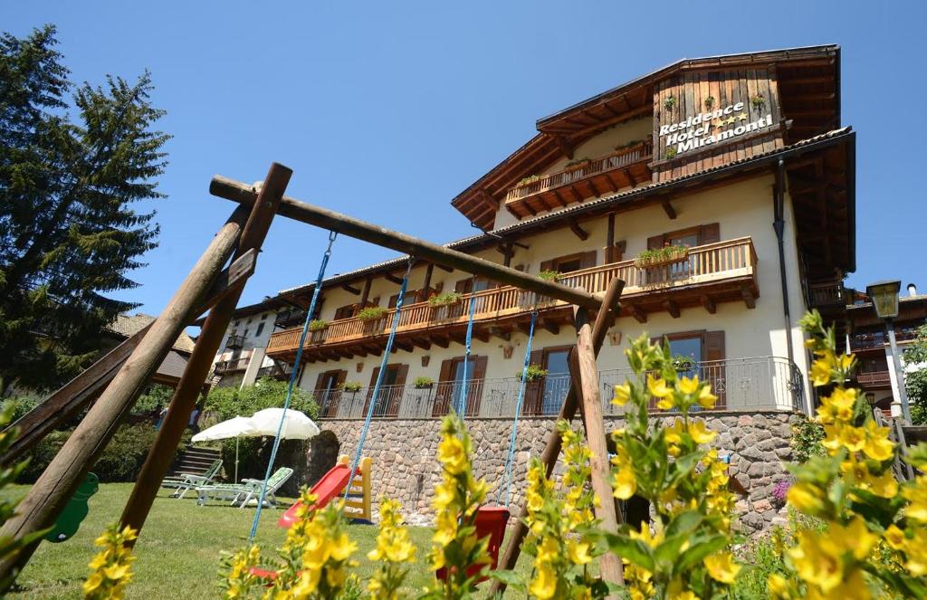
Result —
<instances>
[{"instance_id":1,"label":"long middle-floor wooden balcony including its dark bracketed underside","mask_svg":"<svg viewBox=\"0 0 927 600\"><path fill-rule=\"evenodd\" d=\"M710 313L718 302L743 301L753 308L759 289L756 284L756 251L750 237L740 237L690 249L689 256L677 262L638 268L633 261L613 262L565 274L561 283L601 293L615 277L625 281L622 316L646 322L648 313L668 312L679 317L683 308L702 306ZM515 329L527 330L530 313L538 308L539 326L552 333L571 322L570 307L560 300L539 297L517 287L495 287L465 294L450 306L433 307L416 302L402 307L396 346L412 351L428 350L431 344L447 348L451 341L464 342L470 300L476 299L474 336L509 338ZM324 329L311 332L303 351L307 362L352 358L368 353L379 355L392 326L395 309L379 319L359 317L331 321ZM292 360L298 348L301 327L278 331L271 336L267 354L279 360Z\"/></svg>"}]
</instances>

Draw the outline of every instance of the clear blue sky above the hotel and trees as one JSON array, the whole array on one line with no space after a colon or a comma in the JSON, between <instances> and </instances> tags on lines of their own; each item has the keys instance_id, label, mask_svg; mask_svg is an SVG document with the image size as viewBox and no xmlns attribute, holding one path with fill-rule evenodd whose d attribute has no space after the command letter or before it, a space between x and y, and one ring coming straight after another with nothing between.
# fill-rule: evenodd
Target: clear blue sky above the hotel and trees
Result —
<instances>
[{"instance_id":1,"label":"clear blue sky above the hotel and trees","mask_svg":"<svg viewBox=\"0 0 927 600\"><path fill-rule=\"evenodd\" d=\"M540 117L684 57L839 44L857 131L855 287L927 291L927 2L5 2L55 23L74 82L151 70L174 137L160 246L121 293L159 313L232 211L214 173L294 170L288 194L435 242L476 230L450 200ZM140 207L145 208L145 207ZM771 224L770 224L771 226ZM314 279L325 232L278 218L243 302ZM395 253L337 241L329 273ZM774 257L761 257L774 260Z\"/></svg>"}]
</instances>

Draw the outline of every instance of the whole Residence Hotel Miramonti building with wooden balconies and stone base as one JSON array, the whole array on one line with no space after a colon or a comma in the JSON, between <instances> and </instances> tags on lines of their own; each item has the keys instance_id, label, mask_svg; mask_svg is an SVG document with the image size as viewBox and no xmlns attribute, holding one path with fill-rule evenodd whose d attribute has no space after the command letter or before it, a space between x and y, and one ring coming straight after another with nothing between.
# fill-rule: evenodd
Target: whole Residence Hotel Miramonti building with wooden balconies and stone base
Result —
<instances>
[{"instance_id":1,"label":"whole Residence Hotel Miramonti building with wooden balconies and stone base","mask_svg":"<svg viewBox=\"0 0 927 600\"><path fill-rule=\"evenodd\" d=\"M837 46L682 60L540 119L537 135L451 201L484 231L452 249L528 274L556 271L565 285L592 292L614 277L626 281L599 357L603 393L629 373L623 351L641 333L692 359L692 373L717 390L709 425L756 500L744 509L756 529L775 514L768 497L785 477L791 415L813 402L798 319L819 307L843 322L840 282L856 268L856 134L841 125L840 107ZM676 246L684 256L635 262ZM356 443L371 400L405 265L400 257L324 281L324 328L311 333L298 383L314 391L342 451ZM449 291L461 301L428 303ZM241 309L219 364L260 354L268 335L260 366L291 363L311 293L312 285L297 287ZM548 374L527 387L519 456L540 452L568 387L571 307L416 262L368 450L384 478L375 492L395 490L421 510L438 477L437 421L427 417L446 414L462 389L474 298L466 402L469 426L480 429L479 474L502 474L499 449L535 308L531 361ZM386 313L362 319L372 306ZM436 383L416 388L417 377ZM346 382L362 389L345 391ZM606 415L616 427L615 407Z\"/></svg>"}]
</instances>

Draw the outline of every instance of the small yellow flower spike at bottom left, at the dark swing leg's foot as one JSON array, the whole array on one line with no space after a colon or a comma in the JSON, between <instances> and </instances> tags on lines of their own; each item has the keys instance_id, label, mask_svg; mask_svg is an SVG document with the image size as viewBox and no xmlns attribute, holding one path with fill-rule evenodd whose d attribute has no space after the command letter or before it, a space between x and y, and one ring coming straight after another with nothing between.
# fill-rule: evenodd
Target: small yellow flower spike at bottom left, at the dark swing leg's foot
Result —
<instances>
[{"instance_id":1,"label":"small yellow flower spike at bottom left, at the dark swing leg's foot","mask_svg":"<svg viewBox=\"0 0 927 600\"><path fill-rule=\"evenodd\" d=\"M128 543L135 539L135 530L128 525L120 530L113 524L96 538L95 544L103 548L90 561L91 573L83 582L85 600L120 600L125 586L132 581L132 563L135 557Z\"/></svg>"}]
</instances>

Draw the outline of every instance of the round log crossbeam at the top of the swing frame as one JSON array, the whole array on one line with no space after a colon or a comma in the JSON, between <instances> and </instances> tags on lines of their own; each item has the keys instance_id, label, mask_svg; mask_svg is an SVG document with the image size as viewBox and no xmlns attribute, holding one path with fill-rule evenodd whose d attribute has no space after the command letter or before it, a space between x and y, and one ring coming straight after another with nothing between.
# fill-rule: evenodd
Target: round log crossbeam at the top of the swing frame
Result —
<instances>
[{"instance_id":1,"label":"round log crossbeam at the top of the swing frame","mask_svg":"<svg viewBox=\"0 0 927 600\"><path fill-rule=\"evenodd\" d=\"M254 203L254 190L250 185L215 176L210 184L210 194L225 198L240 204ZM278 214L302 223L309 223L339 234L355 237L367 242L394 249L414 256L418 260L434 262L438 265L453 267L467 273L486 277L490 281L498 281L507 286L521 287L527 291L548 296L556 300L563 300L568 304L576 304L590 310L598 310L602 305L602 298L597 294L578 288L566 287L552 281L544 281L535 275L515 271L498 262L489 262L483 259L464 254L438 244L432 244L413 236L406 236L385 227L366 223L354 219L346 214L329 211L294 198L284 197L280 202Z\"/></svg>"}]
</instances>

